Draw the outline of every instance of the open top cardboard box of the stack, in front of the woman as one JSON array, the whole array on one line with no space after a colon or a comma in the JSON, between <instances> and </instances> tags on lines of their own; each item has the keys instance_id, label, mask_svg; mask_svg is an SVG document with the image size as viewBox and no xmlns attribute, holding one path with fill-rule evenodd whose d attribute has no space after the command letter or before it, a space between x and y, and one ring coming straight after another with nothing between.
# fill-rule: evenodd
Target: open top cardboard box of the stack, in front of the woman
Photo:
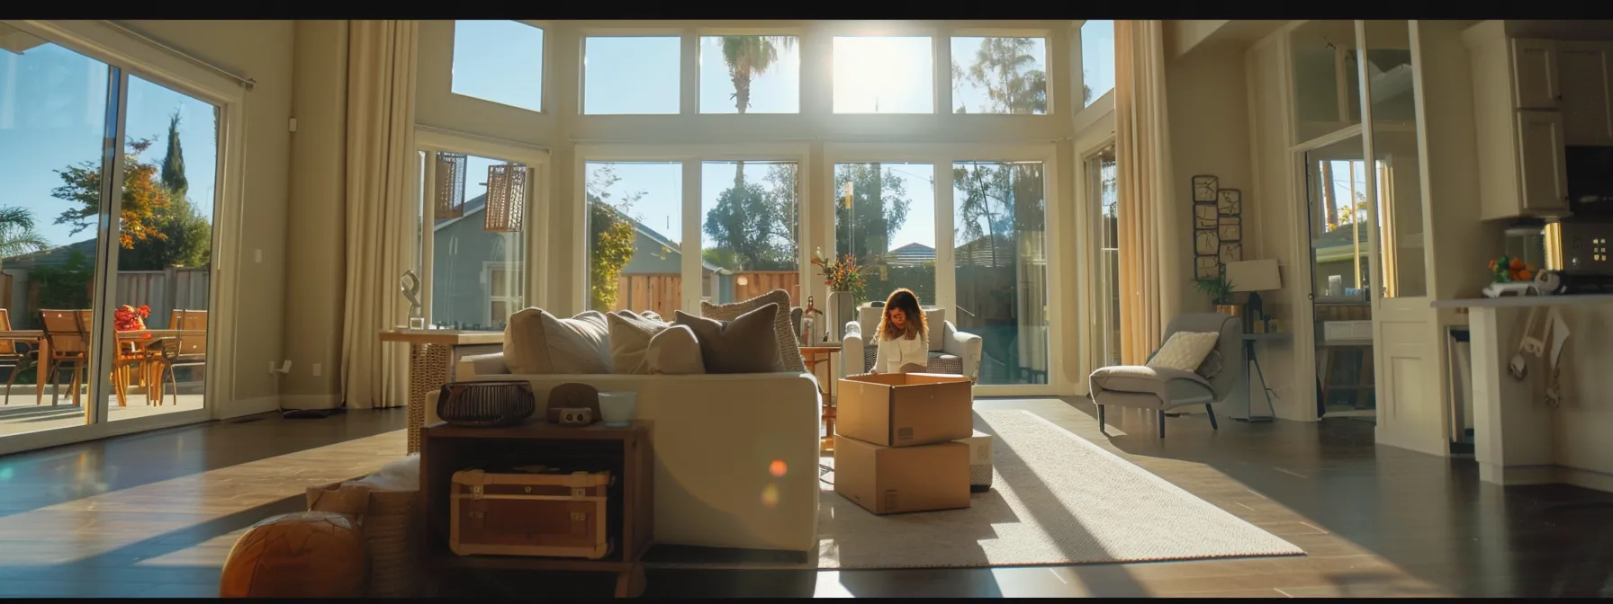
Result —
<instances>
[{"instance_id":1,"label":"open top cardboard box of the stack, in front of the woman","mask_svg":"<svg viewBox=\"0 0 1613 604\"><path fill-rule=\"evenodd\" d=\"M945 443L974 433L973 406L963 375L852 375L840 380L834 432L884 446Z\"/></svg>"}]
</instances>

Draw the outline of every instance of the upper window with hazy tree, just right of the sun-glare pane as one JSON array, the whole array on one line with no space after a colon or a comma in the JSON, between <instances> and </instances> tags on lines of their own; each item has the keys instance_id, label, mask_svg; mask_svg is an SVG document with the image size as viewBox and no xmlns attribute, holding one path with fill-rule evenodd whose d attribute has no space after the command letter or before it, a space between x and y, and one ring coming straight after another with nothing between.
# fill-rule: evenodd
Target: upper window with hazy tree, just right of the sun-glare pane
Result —
<instances>
[{"instance_id":1,"label":"upper window with hazy tree, just right of the sun-glare pane","mask_svg":"<svg viewBox=\"0 0 1613 604\"><path fill-rule=\"evenodd\" d=\"M953 113L1047 113L1047 39L953 37Z\"/></svg>"}]
</instances>

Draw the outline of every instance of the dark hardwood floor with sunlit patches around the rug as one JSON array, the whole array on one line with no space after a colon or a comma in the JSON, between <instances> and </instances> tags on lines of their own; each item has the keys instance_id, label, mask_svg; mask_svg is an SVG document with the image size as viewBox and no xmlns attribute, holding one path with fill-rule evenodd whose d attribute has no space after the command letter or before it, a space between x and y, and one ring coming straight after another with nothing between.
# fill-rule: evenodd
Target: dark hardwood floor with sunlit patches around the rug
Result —
<instances>
[{"instance_id":1,"label":"dark hardwood floor with sunlit patches around the rug","mask_svg":"<svg viewBox=\"0 0 1613 604\"><path fill-rule=\"evenodd\" d=\"M1497 488L1469 459L1373 446L1373 425L1242 424L1084 399L982 399L1031 409L1234 515L1302 557L1016 569L650 570L647 596L1613 596L1613 494ZM403 451L403 411L208 424L0 457L0 598L215 596L224 554L303 488ZM660 556L668 556L661 552ZM669 556L684 556L669 551ZM532 586L603 594L598 577L481 575L465 596ZM598 583L598 585L595 585ZM531 585L531 586L529 586Z\"/></svg>"}]
</instances>

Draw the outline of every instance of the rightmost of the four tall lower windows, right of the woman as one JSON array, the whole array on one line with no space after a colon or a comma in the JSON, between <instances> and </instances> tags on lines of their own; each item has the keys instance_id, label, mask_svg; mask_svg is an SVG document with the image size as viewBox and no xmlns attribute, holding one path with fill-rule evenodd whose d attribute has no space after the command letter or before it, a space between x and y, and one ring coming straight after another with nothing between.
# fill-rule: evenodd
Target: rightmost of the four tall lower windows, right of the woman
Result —
<instances>
[{"instance_id":1,"label":"rightmost of the four tall lower windows, right of the woman","mask_svg":"<svg viewBox=\"0 0 1613 604\"><path fill-rule=\"evenodd\" d=\"M981 337L979 383L1047 383L1045 166L952 168L958 329Z\"/></svg>"}]
</instances>

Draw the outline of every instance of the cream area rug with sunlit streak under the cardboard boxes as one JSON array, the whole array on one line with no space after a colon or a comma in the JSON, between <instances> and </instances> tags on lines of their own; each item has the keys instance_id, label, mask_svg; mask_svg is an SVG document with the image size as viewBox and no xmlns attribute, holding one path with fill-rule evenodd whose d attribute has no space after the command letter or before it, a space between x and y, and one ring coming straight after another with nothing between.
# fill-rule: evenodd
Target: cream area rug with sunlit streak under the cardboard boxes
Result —
<instances>
[{"instance_id":1,"label":"cream area rug with sunlit streak under the cardboard boxes","mask_svg":"<svg viewBox=\"0 0 1613 604\"><path fill-rule=\"evenodd\" d=\"M979 411L976 428L994 435L995 472L992 490L973 494L968 509L873 515L836 494L826 472L816 564L677 565L939 569L1303 554L1029 411Z\"/></svg>"}]
</instances>

